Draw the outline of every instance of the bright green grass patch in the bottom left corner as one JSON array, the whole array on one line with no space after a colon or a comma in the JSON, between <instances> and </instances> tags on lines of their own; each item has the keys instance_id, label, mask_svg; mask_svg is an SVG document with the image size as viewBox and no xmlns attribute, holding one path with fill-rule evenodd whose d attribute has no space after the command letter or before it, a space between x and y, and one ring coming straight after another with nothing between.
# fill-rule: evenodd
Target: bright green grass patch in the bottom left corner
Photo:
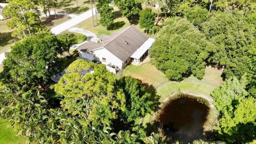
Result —
<instances>
[{"instance_id":1,"label":"bright green grass patch in the bottom left corner","mask_svg":"<svg viewBox=\"0 0 256 144\"><path fill-rule=\"evenodd\" d=\"M11 125L4 119L0 119L0 143L23 144L26 139L16 136Z\"/></svg>"}]
</instances>

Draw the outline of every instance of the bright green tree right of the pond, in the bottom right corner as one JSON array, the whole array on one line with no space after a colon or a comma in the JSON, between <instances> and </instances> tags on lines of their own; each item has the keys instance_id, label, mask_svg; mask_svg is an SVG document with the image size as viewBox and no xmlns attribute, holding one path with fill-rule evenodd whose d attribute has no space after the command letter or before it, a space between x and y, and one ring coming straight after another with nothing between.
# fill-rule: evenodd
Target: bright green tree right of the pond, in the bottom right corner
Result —
<instances>
[{"instance_id":1,"label":"bright green tree right of the pond, in the bottom right corner","mask_svg":"<svg viewBox=\"0 0 256 144\"><path fill-rule=\"evenodd\" d=\"M256 101L247 98L245 76L240 81L229 78L211 94L220 111L217 131L229 143L250 142L256 138Z\"/></svg>"}]
</instances>

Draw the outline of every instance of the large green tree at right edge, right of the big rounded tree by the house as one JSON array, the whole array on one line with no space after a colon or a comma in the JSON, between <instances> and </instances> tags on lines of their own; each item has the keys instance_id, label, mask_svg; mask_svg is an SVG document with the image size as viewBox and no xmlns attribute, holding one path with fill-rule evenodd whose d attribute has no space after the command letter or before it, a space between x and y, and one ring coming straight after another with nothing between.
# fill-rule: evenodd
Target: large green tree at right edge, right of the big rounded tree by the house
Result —
<instances>
[{"instance_id":1,"label":"large green tree at right edge, right of the big rounded tree by the house","mask_svg":"<svg viewBox=\"0 0 256 144\"><path fill-rule=\"evenodd\" d=\"M255 28L239 13L217 12L203 27L206 37L216 45L209 62L226 66L225 75L241 77L248 73L246 51L255 41Z\"/></svg>"}]
</instances>

